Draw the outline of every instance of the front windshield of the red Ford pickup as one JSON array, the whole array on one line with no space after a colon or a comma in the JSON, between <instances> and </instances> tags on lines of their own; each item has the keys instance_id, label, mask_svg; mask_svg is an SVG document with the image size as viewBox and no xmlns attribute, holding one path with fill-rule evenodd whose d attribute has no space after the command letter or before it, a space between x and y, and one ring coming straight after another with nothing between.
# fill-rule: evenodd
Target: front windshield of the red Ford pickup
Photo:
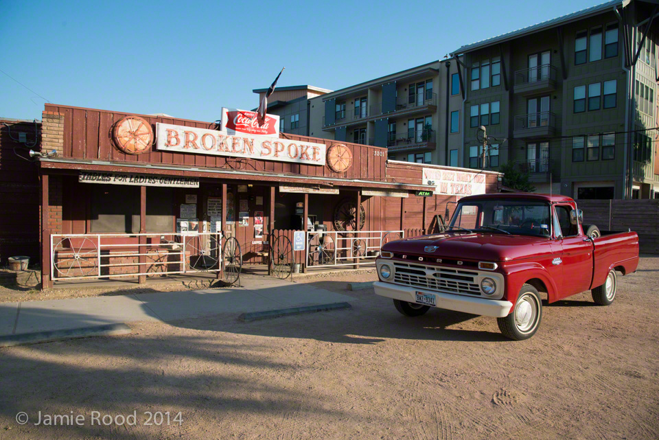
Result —
<instances>
[{"instance_id":1,"label":"front windshield of the red Ford pickup","mask_svg":"<svg viewBox=\"0 0 659 440\"><path fill-rule=\"evenodd\" d=\"M548 203L535 200L459 202L448 229L549 237L550 212Z\"/></svg>"}]
</instances>

